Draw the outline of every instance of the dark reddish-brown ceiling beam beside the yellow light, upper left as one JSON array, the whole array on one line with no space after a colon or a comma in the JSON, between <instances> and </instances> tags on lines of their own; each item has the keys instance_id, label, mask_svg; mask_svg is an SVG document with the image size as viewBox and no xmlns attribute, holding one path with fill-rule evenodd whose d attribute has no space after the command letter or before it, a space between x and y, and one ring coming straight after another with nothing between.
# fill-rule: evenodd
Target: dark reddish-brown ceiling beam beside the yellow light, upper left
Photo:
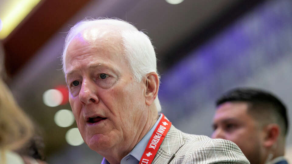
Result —
<instances>
[{"instance_id":1,"label":"dark reddish-brown ceiling beam beside the yellow light, upper left","mask_svg":"<svg viewBox=\"0 0 292 164\"><path fill-rule=\"evenodd\" d=\"M4 2L2 0L2 3ZM3 40L7 73L12 76L17 73L35 55L36 50L87 2L89 0L72 0L70 3L57 0L40 1Z\"/></svg>"}]
</instances>

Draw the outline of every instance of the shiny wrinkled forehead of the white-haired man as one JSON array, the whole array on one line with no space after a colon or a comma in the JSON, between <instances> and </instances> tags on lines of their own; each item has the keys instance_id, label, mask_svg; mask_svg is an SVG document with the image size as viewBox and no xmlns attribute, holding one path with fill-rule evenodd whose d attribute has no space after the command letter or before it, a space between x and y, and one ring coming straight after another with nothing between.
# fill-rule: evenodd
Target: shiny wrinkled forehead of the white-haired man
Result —
<instances>
[{"instance_id":1,"label":"shiny wrinkled forehead of the white-haired man","mask_svg":"<svg viewBox=\"0 0 292 164\"><path fill-rule=\"evenodd\" d=\"M110 61L125 62L124 60L116 60L117 58L123 59L123 57L121 58L122 55L123 46L121 39L116 35L112 35L111 32L106 30L104 32L96 31L96 29L92 28L82 30L69 43L64 64L65 67L68 67L68 64L71 66L70 69L68 68L69 70L65 70L65 76L72 74L73 70L81 66L80 64L72 63L72 60L88 60L86 63L83 63L86 67L95 67L96 65L108 67L108 62ZM111 66L114 67L114 64L112 63Z\"/></svg>"}]
</instances>

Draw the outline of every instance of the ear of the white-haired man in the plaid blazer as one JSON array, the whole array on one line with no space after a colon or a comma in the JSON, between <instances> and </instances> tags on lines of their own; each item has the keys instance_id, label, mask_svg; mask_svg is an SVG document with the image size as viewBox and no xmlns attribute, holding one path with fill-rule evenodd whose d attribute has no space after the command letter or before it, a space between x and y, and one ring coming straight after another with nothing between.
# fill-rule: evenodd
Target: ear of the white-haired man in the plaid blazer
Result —
<instances>
[{"instance_id":1,"label":"ear of the white-haired man in the plaid blazer","mask_svg":"<svg viewBox=\"0 0 292 164\"><path fill-rule=\"evenodd\" d=\"M145 85L145 102L146 105L150 106L158 94L159 78L156 72L151 72L146 75Z\"/></svg>"}]
</instances>

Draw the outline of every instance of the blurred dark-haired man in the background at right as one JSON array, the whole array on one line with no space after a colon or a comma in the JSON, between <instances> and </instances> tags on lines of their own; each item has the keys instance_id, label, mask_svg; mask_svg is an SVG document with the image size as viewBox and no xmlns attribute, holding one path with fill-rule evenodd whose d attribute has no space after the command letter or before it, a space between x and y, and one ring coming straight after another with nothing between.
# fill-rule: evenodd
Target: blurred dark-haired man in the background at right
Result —
<instances>
[{"instance_id":1,"label":"blurred dark-haired man in the background at right","mask_svg":"<svg viewBox=\"0 0 292 164\"><path fill-rule=\"evenodd\" d=\"M272 94L236 88L217 100L212 138L235 142L251 164L287 164L283 158L288 120Z\"/></svg>"}]
</instances>

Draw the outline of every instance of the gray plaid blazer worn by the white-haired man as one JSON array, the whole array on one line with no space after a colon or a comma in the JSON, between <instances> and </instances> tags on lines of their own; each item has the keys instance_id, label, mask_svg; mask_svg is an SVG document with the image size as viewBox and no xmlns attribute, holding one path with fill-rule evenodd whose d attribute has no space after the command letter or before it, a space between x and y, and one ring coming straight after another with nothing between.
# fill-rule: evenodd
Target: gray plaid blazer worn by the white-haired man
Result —
<instances>
[{"instance_id":1,"label":"gray plaid blazer worn by the white-haired man","mask_svg":"<svg viewBox=\"0 0 292 164\"><path fill-rule=\"evenodd\" d=\"M242 163L249 161L235 143L203 135L183 133L173 125L162 141L155 164Z\"/></svg>"}]
</instances>

